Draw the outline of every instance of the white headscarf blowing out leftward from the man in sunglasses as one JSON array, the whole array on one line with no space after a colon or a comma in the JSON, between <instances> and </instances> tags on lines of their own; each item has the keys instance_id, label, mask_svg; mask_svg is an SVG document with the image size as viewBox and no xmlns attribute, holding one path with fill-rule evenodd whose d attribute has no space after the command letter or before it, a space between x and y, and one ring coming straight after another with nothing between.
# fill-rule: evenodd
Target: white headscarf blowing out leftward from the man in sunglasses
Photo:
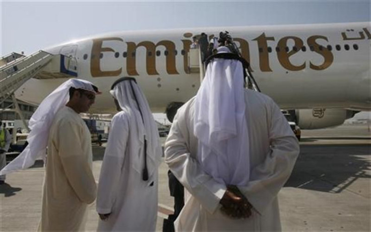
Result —
<instances>
[{"instance_id":1,"label":"white headscarf blowing out leftward from the man in sunglasses","mask_svg":"<svg viewBox=\"0 0 371 232\"><path fill-rule=\"evenodd\" d=\"M27 137L27 147L16 159L1 170L0 175L27 169L39 158L45 161L49 128L56 112L69 101L70 88L74 87L75 89L83 89L96 93L92 85L92 83L85 80L70 79L49 94L41 102L29 121L31 132Z\"/></svg>"}]
</instances>

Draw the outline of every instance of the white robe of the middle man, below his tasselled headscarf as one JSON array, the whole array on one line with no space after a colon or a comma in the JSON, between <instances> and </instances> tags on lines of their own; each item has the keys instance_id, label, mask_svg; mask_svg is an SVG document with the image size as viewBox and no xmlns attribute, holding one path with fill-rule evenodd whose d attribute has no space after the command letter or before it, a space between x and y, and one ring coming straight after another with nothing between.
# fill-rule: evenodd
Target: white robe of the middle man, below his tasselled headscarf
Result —
<instances>
[{"instance_id":1,"label":"white robe of the middle man, below his tasselled headscarf","mask_svg":"<svg viewBox=\"0 0 371 232\"><path fill-rule=\"evenodd\" d=\"M132 162L144 153L144 145L130 146L130 139L138 138L130 136L129 123L136 121L125 110L112 118L97 194L97 212L111 214L106 221L99 219L98 231L156 229L158 170L143 181L142 172L133 168ZM143 159L140 166L144 167Z\"/></svg>"}]
</instances>

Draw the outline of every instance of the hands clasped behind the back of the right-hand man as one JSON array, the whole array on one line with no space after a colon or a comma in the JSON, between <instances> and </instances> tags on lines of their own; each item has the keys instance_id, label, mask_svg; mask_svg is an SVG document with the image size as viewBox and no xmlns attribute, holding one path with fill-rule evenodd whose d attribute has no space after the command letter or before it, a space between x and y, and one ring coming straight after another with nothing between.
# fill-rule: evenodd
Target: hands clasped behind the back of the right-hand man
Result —
<instances>
[{"instance_id":1,"label":"hands clasped behind the back of the right-hand man","mask_svg":"<svg viewBox=\"0 0 371 232\"><path fill-rule=\"evenodd\" d=\"M248 218L253 206L243 196L236 186L227 186L227 190L220 200L222 212L233 218Z\"/></svg>"}]
</instances>

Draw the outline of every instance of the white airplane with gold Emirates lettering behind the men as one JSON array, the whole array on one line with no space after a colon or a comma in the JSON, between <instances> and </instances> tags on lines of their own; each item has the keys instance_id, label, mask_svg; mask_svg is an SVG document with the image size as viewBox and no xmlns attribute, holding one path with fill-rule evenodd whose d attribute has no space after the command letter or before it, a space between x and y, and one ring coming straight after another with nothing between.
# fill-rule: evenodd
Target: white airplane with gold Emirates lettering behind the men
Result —
<instances>
[{"instance_id":1,"label":"white airplane with gold Emirates lettering behind the men","mask_svg":"<svg viewBox=\"0 0 371 232\"><path fill-rule=\"evenodd\" d=\"M340 125L371 109L370 22L117 32L43 50L74 58L77 78L103 91L91 112L114 112L111 84L133 76L152 111L162 113L170 103L188 101L200 87L200 73L192 71L189 58L193 37L205 33L211 39L221 31L229 32L250 62L262 93L294 112L302 129ZM16 97L39 104L65 81L32 78Z\"/></svg>"}]
</instances>

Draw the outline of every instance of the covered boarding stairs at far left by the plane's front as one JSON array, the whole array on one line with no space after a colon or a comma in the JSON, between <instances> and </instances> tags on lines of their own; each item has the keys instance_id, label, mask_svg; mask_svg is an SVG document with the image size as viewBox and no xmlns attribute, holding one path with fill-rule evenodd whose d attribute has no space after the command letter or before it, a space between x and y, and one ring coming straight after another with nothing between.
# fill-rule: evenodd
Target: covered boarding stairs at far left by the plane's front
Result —
<instances>
[{"instance_id":1,"label":"covered boarding stairs at far left by the plane's front","mask_svg":"<svg viewBox=\"0 0 371 232\"><path fill-rule=\"evenodd\" d=\"M12 98L14 109L0 109L17 112L27 127L22 111L19 109L14 92L31 78L55 79L77 76L77 61L74 57L45 51L37 51L29 56L11 53L0 58L0 104Z\"/></svg>"}]
</instances>

